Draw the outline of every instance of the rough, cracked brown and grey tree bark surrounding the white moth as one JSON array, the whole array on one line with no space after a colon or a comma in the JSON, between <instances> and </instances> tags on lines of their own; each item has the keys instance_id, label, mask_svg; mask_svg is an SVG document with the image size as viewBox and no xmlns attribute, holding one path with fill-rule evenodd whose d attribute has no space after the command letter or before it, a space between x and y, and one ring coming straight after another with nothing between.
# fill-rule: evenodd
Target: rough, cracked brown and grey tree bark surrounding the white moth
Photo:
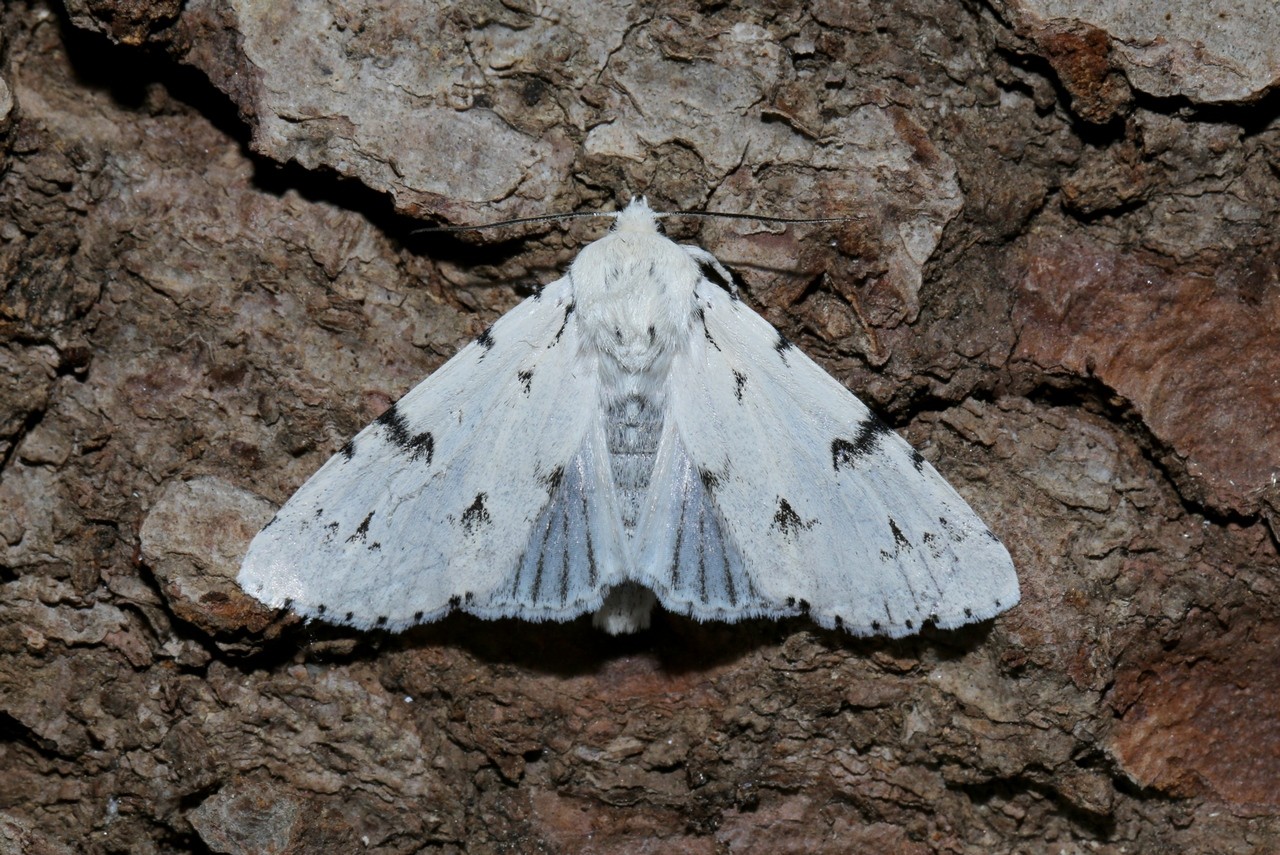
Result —
<instances>
[{"instance_id":1,"label":"rough, cracked brown and grey tree bark surrounding the white moth","mask_svg":"<svg viewBox=\"0 0 1280 855\"><path fill-rule=\"evenodd\" d=\"M1267 3L4 8L0 854L1280 850ZM1158 9L1169 8L1167 15ZM257 527L655 206L1002 536L904 641L301 625Z\"/></svg>"}]
</instances>

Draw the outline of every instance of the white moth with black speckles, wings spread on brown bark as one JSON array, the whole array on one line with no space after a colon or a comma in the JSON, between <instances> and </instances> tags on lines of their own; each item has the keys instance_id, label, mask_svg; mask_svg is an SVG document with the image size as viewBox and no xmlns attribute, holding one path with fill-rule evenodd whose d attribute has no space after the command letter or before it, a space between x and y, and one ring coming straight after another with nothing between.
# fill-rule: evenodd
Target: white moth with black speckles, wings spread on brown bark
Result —
<instances>
[{"instance_id":1,"label":"white moth with black speckles, wings spread on brown bark","mask_svg":"<svg viewBox=\"0 0 1280 855\"><path fill-rule=\"evenodd\" d=\"M451 609L649 626L808 613L855 635L1018 602L915 449L643 201L342 447L239 572L275 608L402 630Z\"/></svg>"}]
</instances>

